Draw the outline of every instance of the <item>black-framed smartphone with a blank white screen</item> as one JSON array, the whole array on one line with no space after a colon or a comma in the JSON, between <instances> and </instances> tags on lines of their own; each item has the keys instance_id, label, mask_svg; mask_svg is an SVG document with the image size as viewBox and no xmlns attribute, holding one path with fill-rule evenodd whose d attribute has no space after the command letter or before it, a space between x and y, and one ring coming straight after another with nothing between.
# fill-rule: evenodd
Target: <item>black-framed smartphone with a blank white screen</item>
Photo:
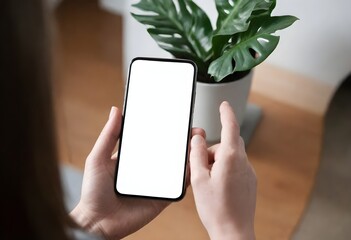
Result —
<instances>
[{"instance_id":1,"label":"black-framed smartphone with a blank white screen","mask_svg":"<svg viewBox=\"0 0 351 240\"><path fill-rule=\"evenodd\" d=\"M189 60L132 60L115 174L118 195L183 197L196 78Z\"/></svg>"}]
</instances>

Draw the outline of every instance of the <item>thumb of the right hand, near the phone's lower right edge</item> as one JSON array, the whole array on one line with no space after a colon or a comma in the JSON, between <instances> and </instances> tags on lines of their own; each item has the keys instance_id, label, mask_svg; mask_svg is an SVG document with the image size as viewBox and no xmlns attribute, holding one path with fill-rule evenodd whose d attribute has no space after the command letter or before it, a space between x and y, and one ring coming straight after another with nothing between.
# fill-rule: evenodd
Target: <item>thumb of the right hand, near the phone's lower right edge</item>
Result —
<instances>
[{"instance_id":1,"label":"thumb of the right hand, near the phone's lower right edge","mask_svg":"<svg viewBox=\"0 0 351 240\"><path fill-rule=\"evenodd\" d=\"M206 141L198 134L191 139L190 172L191 183L201 181L209 176Z\"/></svg>"}]
</instances>

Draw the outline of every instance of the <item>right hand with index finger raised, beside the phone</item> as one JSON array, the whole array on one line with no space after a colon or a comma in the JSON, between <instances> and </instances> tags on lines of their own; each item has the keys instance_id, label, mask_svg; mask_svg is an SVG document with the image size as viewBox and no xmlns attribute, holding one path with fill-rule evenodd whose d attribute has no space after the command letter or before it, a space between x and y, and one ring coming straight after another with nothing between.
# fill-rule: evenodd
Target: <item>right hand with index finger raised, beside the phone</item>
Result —
<instances>
[{"instance_id":1,"label":"right hand with index finger raised, beside the phone","mask_svg":"<svg viewBox=\"0 0 351 240\"><path fill-rule=\"evenodd\" d=\"M211 239L255 239L256 175L240 128L227 102L220 106L221 143L191 141L191 185L196 208Z\"/></svg>"}]
</instances>

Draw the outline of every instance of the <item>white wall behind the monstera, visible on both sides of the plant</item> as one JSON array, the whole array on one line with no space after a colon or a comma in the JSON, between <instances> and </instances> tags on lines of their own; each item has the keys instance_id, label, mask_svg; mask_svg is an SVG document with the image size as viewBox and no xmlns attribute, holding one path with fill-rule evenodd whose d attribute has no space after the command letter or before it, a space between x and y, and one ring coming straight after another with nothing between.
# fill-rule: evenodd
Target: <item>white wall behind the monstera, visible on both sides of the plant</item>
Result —
<instances>
[{"instance_id":1,"label":"white wall behind the monstera, visible on both sides of the plant","mask_svg":"<svg viewBox=\"0 0 351 240\"><path fill-rule=\"evenodd\" d=\"M146 33L145 27L130 16L130 5L138 0L101 1L109 2L109 8L111 4L115 5L116 9L120 9L122 2L126 4L125 63L136 56L170 56L157 46ZM215 19L213 0L195 2L209 13L212 20ZM351 72L350 10L350 0L278 0L274 15L291 14L300 20L279 32L280 44L267 62L337 86Z\"/></svg>"}]
</instances>

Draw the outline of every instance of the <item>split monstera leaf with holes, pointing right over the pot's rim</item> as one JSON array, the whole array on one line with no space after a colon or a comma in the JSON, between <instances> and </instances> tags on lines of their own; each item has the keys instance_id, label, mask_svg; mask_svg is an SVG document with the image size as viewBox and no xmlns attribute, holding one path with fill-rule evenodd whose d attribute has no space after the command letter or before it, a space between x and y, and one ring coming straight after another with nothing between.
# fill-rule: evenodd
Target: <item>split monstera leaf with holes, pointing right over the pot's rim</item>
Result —
<instances>
[{"instance_id":1,"label":"split monstera leaf with holes, pointing right over the pot's rim","mask_svg":"<svg viewBox=\"0 0 351 240\"><path fill-rule=\"evenodd\" d=\"M273 33L296 20L293 16L253 19L247 31L238 35L239 40L228 45L223 54L210 64L208 73L215 81L220 81L234 72L250 70L262 63L278 45L279 37Z\"/></svg>"}]
</instances>

